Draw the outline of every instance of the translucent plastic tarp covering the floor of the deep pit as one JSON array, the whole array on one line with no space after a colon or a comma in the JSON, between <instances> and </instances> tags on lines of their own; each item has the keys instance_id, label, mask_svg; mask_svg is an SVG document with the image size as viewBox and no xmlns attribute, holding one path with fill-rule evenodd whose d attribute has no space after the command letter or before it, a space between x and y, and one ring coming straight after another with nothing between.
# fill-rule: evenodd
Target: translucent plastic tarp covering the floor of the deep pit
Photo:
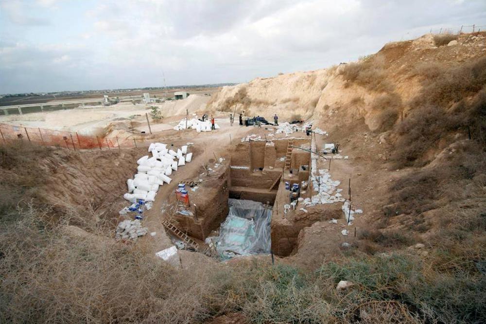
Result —
<instances>
[{"instance_id":1,"label":"translucent plastic tarp covering the floor of the deep pit","mask_svg":"<svg viewBox=\"0 0 486 324\"><path fill-rule=\"evenodd\" d=\"M269 254L272 210L251 200L229 199L229 212L221 224L216 251L222 256Z\"/></svg>"}]
</instances>

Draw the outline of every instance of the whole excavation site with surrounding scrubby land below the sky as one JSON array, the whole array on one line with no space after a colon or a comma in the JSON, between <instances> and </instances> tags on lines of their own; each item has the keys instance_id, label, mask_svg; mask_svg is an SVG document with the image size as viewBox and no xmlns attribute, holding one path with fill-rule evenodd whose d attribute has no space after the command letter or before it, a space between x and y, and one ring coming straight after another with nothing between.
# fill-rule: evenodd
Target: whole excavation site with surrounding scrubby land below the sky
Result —
<instances>
[{"instance_id":1,"label":"whole excavation site with surrounding scrubby land below the sky","mask_svg":"<svg viewBox=\"0 0 486 324\"><path fill-rule=\"evenodd\" d=\"M485 323L485 85L461 29L240 84L0 98L0 322Z\"/></svg>"}]
</instances>

